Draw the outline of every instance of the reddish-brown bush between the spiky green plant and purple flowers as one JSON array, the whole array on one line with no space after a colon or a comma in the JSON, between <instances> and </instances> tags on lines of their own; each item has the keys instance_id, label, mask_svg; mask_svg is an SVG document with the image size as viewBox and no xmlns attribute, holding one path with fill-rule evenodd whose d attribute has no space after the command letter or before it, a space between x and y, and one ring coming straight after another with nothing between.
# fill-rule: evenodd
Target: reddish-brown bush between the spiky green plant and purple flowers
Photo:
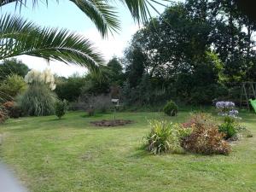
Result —
<instances>
[{"instance_id":1,"label":"reddish-brown bush between the spiky green plant and purple flowers","mask_svg":"<svg viewBox=\"0 0 256 192\"><path fill-rule=\"evenodd\" d=\"M195 154L229 154L230 145L223 140L224 133L218 131L218 125L205 113L196 113L189 119L192 132L184 137L182 147Z\"/></svg>"}]
</instances>

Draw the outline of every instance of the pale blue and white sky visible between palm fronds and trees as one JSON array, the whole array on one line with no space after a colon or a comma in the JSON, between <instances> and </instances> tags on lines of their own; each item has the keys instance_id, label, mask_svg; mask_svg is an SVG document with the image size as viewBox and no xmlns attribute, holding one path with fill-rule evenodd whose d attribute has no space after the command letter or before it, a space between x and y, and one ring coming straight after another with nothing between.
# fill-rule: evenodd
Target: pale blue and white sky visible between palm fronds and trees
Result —
<instances>
[{"instance_id":1,"label":"pale blue and white sky visible between palm fronds and trees","mask_svg":"<svg viewBox=\"0 0 256 192\"><path fill-rule=\"evenodd\" d=\"M131 18L128 9L125 9L122 4L116 4L119 12L119 20L121 21L121 30L119 33L114 33L113 36L110 35L108 38L103 39L96 30L96 26L73 3L68 0L59 0L59 3L56 2L49 1L48 6L45 3L39 3L38 7L35 8L32 8L32 5L28 3L21 11L20 9L15 11L15 4L8 4L0 9L0 13L1 15L20 15L24 19L34 21L39 26L67 28L73 32L78 32L84 38L89 38L95 44L95 47L102 53L106 61L110 60L113 56L121 57L124 49L131 40L131 36L140 27ZM165 9L157 4L155 4L155 8L160 13ZM155 11L151 11L151 14L153 16L158 15ZM68 77L73 73L86 73L86 68L84 67L66 65L60 61L50 61L48 63L44 59L27 55L21 55L17 58L32 69L43 71L45 68L49 68L52 73L60 76Z\"/></svg>"}]
</instances>

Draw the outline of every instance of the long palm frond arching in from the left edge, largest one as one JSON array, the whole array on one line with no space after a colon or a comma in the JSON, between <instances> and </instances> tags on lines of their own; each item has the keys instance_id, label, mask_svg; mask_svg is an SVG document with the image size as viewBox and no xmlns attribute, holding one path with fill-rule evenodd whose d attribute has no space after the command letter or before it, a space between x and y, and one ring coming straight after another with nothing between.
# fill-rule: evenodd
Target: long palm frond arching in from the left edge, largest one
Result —
<instances>
[{"instance_id":1,"label":"long palm frond arching in from the left edge, largest one","mask_svg":"<svg viewBox=\"0 0 256 192\"><path fill-rule=\"evenodd\" d=\"M65 29L39 27L19 17L0 17L0 60L32 55L97 71L102 56L86 38Z\"/></svg>"}]
</instances>

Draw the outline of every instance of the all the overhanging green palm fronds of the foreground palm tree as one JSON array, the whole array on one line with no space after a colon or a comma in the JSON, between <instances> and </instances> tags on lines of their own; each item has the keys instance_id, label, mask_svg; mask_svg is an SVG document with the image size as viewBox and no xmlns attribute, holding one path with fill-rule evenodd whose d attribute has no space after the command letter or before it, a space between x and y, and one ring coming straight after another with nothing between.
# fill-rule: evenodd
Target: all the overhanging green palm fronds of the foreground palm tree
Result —
<instances>
[{"instance_id":1,"label":"all the overhanging green palm fronds of the foreground palm tree","mask_svg":"<svg viewBox=\"0 0 256 192\"><path fill-rule=\"evenodd\" d=\"M92 20L102 37L119 31L119 19L116 8L110 5L115 0L70 0ZM124 3L131 16L138 23L146 22L149 8L158 0L116 0ZM161 0L168 1L168 0ZM45 0L48 3L48 0ZM0 8L15 3L16 8L26 6L26 0L0 0ZM32 0L32 5L38 0ZM157 11L155 9L155 11ZM88 67L96 72L102 65L102 55L86 38L65 29L40 27L14 15L0 17L0 60L17 55L32 55L44 59L63 61Z\"/></svg>"}]
</instances>

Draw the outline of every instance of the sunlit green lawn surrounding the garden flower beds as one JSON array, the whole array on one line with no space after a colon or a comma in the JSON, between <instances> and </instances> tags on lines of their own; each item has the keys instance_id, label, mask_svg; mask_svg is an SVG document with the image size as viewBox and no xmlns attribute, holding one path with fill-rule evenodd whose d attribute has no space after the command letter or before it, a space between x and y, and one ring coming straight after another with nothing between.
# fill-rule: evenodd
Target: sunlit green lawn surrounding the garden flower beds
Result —
<instances>
[{"instance_id":1,"label":"sunlit green lawn surrounding the garden flower beds","mask_svg":"<svg viewBox=\"0 0 256 192\"><path fill-rule=\"evenodd\" d=\"M162 113L118 113L135 123L96 128L90 121L112 114L84 117L68 113L9 119L1 125L2 161L31 191L256 191L256 115L243 113L253 138L234 143L228 155L165 154L140 148L148 119ZM174 122L183 122L181 112Z\"/></svg>"}]
</instances>

